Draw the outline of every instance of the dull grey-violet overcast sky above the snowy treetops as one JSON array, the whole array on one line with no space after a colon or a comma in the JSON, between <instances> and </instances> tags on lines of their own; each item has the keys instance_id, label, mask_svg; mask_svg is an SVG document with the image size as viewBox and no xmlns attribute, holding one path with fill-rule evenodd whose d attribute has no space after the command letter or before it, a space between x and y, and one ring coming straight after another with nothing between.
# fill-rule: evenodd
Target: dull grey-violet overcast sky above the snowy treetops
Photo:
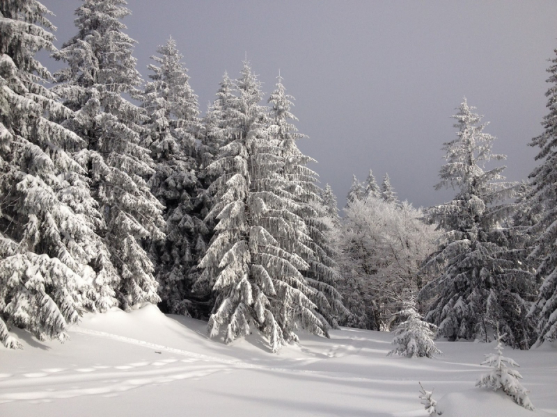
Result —
<instances>
[{"instance_id":1,"label":"dull grey-violet overcast sky above the snowy treetops","mask_svg":"<svg viewBox=\"0 0 557 417\"><path fill-rule=\"evenodd\" d=\"M42 0L56 15L56 46L71 38L77 0ZM466 96L489 121L505 174L535 167L528 142L542 132L545 83L557 48L557 1L130 0L125 17L138 70L169 35L189 68L201 111L223 72L236 78L247 55L268 97L278 70L296 97L299 147L319 161L345 205L352 174L389 172L401 199L430 206L443 142L455 138L450 115ZM57 64L46 63L50 70ZM267 99L267 98L266 98Z\"/></svg>"}]
</instances>

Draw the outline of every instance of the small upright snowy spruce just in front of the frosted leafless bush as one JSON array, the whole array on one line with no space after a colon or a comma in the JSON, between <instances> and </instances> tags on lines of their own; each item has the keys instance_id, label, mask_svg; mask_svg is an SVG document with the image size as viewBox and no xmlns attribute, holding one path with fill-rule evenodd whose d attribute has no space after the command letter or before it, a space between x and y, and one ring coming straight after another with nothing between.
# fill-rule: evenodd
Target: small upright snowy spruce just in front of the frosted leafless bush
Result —
<instances>
[{"instance_id":1,"label":"small upright snowy spruce just in front of the frosted leafless bush","mask_svg":"<svg viewBox=\"0 0 557 417\"><path fill-rule=\"evenodd\" d=\"M435 336L435 325L425 322L418 311L414 297L402 302L402 310L397 315L402 322L395 329L393 345L397 345L389 355L400 354L406 357L432 358L434 354L441 354L437 349L433 338Z\"/></svg>"}]
</instances>

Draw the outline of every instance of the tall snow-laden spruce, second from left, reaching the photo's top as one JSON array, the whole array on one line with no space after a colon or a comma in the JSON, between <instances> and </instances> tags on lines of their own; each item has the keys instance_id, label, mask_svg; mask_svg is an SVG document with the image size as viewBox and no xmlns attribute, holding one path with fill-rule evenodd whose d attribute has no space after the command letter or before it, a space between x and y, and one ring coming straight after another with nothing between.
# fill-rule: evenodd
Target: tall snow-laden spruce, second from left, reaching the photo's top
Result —
<instances>
[{"instance_id":1,"label":"tall snow-laden spruce, second from left, reaching the photo's top","mask_svg":"<svg viewBox=\"0 0 557 417\"><path fill-rule=\"evenodd\" d=\"M100 206L102 236L115 273L95 280L109 286L123 309L130 304L159 302L153 265L142 242L162 239L162 204L146 182L155 172L149 151L140 144L143 109L123 97L141 98L141 83L132 57L135 43L123 33L120 18L130 14L123 0L84 0L77 8L77 35L53 54L68 64L55 74L54 90L75 111L64 126L83 139L77 160L86 167L93 197ZM100 303L106 310L110 305Z\"/></svg>"}]
</instances>

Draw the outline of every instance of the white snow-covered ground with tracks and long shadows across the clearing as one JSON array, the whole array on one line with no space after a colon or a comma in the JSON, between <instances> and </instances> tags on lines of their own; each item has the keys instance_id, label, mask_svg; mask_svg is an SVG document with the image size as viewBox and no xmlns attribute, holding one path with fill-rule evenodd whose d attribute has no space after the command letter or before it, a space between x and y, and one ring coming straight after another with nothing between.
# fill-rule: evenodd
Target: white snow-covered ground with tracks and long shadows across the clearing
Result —
<instances>
[{"instance_id":1,"label":"white snow-covered ground with tracks and long shadows across the clearing","mask_svg":"<svg viewBox=\"0 0 557 417\"><path fill-rule=\"evenodd\" d=\"M557 347L504 351L536 407L474 388L494 343L438 342L438 359L387 357L392 334L342 329L301 335L269 352L256 332L233 345L205 323L150 304L90 314L71 340L0 347L0 416L427 416L421 382L444 416L557 415Z\"/></svg>"}]
</instances>

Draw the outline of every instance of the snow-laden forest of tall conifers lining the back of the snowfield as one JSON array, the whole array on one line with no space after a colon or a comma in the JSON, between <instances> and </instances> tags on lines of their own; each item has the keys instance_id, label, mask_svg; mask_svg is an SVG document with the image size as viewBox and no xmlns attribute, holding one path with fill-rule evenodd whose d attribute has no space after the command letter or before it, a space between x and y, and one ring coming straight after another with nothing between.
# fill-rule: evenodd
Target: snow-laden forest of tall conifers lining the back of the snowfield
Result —
<instances>
[{"instance_id":1,"label":"snow-laden forest of tall conifers lining the back of the snowfield","mask_svg":"<svg viewBox=\"0 0 557 417\"><path fill-rule=\"evenodd\" d=\"M297 329L389 330L412 300L449 340L557 337L557 58L528 180L485 170L504 156L464 99L436 186L453 200L413 208L370 170L340 218L280 76L264 97L244 61L202 116L173 39L143 82L129 13L84 0L58 50L41 3L0 2L4 345L20 347L10 327L63 341L86 311L143 302L208 320L227 343L257 329L274 352ZM41 49L62 69L50 74Z\"/></svg>"}]
</instances>

